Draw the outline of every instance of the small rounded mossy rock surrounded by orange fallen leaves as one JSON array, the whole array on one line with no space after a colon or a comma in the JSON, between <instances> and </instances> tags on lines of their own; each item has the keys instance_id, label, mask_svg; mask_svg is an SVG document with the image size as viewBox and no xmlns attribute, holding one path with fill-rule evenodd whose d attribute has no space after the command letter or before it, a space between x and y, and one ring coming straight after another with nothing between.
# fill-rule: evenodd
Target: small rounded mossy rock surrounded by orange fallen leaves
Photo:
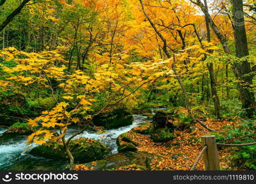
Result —
<instances>
[{"instance_id":1,"label":"small rounded mossy rock surrounded by orange fallen leaves","mask_svg":"<svg viewBox=\"0 0 256 184\"><path fill-rule=\"evenodd\" d=\"M174 139L174 134L169 132L168 128L158 128L150 132L151 139L154 142L168 142Z\"/></svg>"}]
</instances>

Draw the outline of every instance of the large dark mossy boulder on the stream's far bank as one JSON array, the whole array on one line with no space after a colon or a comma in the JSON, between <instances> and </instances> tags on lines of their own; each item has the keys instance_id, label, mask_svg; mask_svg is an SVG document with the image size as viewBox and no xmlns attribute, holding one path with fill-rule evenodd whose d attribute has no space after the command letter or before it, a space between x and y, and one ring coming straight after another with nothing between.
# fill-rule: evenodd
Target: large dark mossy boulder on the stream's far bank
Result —
<instances>
[{"instance_id":1,"label":"large dark mossy boulder on the stream's far bank","mask_svg":"<svg viewBox=\"0 0 256 184\"><path fill-rule=\"evenodd\" d=\"M94 125L103 126L105 129L129 126L132 125L132 120L132 113L128 112L125 108L102 112L92 119Z\"/></svg>"}]
</instances>

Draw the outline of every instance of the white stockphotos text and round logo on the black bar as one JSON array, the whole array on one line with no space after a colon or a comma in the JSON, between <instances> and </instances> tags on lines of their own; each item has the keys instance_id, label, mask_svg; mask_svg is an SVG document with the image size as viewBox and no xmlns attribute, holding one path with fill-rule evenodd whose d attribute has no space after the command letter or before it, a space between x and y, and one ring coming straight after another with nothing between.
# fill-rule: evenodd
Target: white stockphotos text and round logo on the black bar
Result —
<instances>
[{"instance_id":1,"label":"white stockphotos text and round logo on the black bar","mask_svg":"<svg viewBox=\"0 0 256 184\"><path fill-rule=\"evenodd\" d=\"M78 174L67 174L65 172L62 173L15 173L12 174L12 172L8 172L7 174L2 177L3 182L10 182L10 181L24 181L24 180L37 180L41 182L47 182L47 181L58 181L58 180L78 180Z\"/></svg>"}]
</instances>

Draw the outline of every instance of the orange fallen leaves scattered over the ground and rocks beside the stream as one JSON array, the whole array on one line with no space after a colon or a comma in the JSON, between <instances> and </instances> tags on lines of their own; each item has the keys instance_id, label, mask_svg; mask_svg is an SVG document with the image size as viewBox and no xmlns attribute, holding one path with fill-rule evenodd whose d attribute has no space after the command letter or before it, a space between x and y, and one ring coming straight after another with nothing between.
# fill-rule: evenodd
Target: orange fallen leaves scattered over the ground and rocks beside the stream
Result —
<instances>
[{"instance_id":1,"label":"orange fallen leaves scattered over the ground and rocks beside the stream","mask_svg":"<svg viewBox=\"0 0 256 184\"><path fill-rule=\"evenodd\" d=\"M183 112L186 110L180 109ZM171 123L177 125L177 119L171 120ZM209 128L215 129L216 131L222 132L223 128L233 126L236 128L236 124L232 121L218 121L218 120L207 120L204 122ZM153 160L148 164L147 167L142 167L136 164L128 164L125 167L118 167L116 170L119 171L177 171L184 170L189 171L191 166L194 164L195 159L198 157L202 150L201 136L210 134L206 128L201 126L199 123L186 128L185 130L174 131L174 139L167 142L154 142L153 139L148 136L148 130L153 126L152 123L143 123L130 130L126 137L134 141L137 144L137 151L146 153L153 153ZM122 136L119 137L120 144L127 144L126 141L122 141ZM218 150L218 158L220 159L220 166L223 170L237 170L237 167L231 165L230 156L232 150L229 148ZM77 171L90 171L94 170L94 166L86 167L84 165L77 165L74 170ZM204 162L201 159L196 167L196 170L204 170Z\"/></svg>"}]
</instances>

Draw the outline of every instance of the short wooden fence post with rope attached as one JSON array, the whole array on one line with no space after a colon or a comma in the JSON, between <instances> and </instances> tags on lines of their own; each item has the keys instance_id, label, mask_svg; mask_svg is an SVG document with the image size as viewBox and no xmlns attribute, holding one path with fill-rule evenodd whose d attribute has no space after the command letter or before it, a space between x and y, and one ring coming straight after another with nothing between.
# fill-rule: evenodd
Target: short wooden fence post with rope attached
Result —
<instances>
[{"instance_id":1,"label":"short wooden fence post with rope attached","mask_svg":"<svg viewBox=\"0 0 256 184\"><path fill-rule=\"evenodd\" d=\"M220 161L218 161L218 151L216 137L212 135L201 136L202 147L207 145L204 153L204 164L206 171L220 171Z\"/></svg>"}]
</instances>

